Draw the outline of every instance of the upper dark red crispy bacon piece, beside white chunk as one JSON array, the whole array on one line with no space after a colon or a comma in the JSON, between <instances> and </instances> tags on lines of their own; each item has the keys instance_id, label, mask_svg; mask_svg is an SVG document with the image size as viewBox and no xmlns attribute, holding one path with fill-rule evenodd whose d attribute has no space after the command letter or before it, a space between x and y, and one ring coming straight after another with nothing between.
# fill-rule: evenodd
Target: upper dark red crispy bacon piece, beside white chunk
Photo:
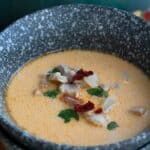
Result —
<instances>
[{"instance_id":1,"label":"upper dark red crispy bacon piece, beside white chunk","mask_svg":"<svg viewBox=\"0 0 150 150\"><path fill-rule=\"evenodd\" d=\"M72 82L75 81L75 80L82 80L84 77L90 76L92 74L93 74L93 71L85 71L83 69L80 69L72 77Z\"/></svg>"}]
</instances>

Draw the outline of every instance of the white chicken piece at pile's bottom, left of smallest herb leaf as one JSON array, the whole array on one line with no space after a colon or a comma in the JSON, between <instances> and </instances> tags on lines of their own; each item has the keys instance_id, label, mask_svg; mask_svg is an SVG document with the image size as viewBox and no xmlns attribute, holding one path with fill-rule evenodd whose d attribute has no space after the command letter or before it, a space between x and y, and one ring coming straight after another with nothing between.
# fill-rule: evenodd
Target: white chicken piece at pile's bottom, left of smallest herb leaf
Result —
<instances>
[{"instance_id":1,"label":"white chicken piece at pile's bottom, left of smallest herb leaf","mask_svg":"<svg viewBox=\"0 0 150 150\"><path fill-rule=\"evenodd\" d=\"M107 127L107 125L110 122L110 119L104 113L95 114L94 112L89 111L89 112L84 113L84 116L88 121L90 121L94 125Z\"/></svg>"}]
</instances>

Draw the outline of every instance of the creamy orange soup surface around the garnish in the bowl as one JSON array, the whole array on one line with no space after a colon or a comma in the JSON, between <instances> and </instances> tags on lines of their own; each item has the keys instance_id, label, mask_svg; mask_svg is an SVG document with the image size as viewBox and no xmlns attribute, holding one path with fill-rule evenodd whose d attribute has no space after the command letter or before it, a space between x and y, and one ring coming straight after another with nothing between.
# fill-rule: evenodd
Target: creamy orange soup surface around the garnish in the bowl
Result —
<instances>
[{"instance_id":1,"label":"creamy orange soup surface around the garnish in the bowl","mask_svg":"<svg viewBox=\"0 0 150 150\"><path fill-rule=\"evenodd\" d=\"M33 95L39 76L59 64L92 70L98 74L101 83L119 83L119 88L110 91L117 97L117 105L109 112L119 124L117 129L109 131L94 126L82 116L79 121L72 119L64 123L58 112L68 108L67 104L59 98ZM128 73L128 81L123 79L122 72ZM86 94L81 96L88 99ZM95 99L91 101L96 103ZM6 104L16 124L37 137L80 146L109 144L135 136L148 127L149 115L139 117L131 114L129 109L134 106L150 109L150 81L141 70L115 56L90 51L65 51L48 54L26 64L11 80Z\"/></svg>"}]
</instances>

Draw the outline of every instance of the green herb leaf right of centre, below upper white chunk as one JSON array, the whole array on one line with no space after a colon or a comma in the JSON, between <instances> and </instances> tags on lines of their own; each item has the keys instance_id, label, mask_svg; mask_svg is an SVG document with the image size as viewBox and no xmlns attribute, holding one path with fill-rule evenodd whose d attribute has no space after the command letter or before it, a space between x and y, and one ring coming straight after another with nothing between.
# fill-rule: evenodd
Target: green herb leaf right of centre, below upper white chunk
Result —
<instances>
[{"instance_id":1,"label":"green herb leaf right of centre, below upper white chunk","mask_svg":"<svg viewBox=\"0 0 150 150\"><path fill-rule=\"evenodd\" d=\"M90 95L94 95L94 96L98 96L98 97L108 97L108 91L105 91L102 87L98 87L98 88L91 88L88 89L87 92Z\"/></svg>"}]
</instances>

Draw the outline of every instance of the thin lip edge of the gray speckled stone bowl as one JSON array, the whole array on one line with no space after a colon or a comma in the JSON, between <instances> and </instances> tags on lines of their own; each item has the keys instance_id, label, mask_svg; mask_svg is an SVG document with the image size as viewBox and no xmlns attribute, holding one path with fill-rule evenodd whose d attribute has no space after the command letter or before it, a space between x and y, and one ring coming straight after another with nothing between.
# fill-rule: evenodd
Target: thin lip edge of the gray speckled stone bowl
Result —
<instances>
[{"instance_id":1,"label":"thin lip edge of the gray speckled stone bowl","mask_svg":"<svg viewBox=\"0 0 150 150\"><path fill-rule=\"evenodd\" d=\"M38 14L38 13L41 13L43 11L51 11L53 9L56 9L56 8L61 8L61 7L80 7L80 6L83 6L83 7L97 7L97 8L103 8L103 9L109 9L109 10L112 10L112 11L119 11L121 13L124 13L124 14L128 14L130 16L133 16L134 18L136 18L137 20L140 20L142 23L145 23L147 24L144 20L142 20L141 18L139 17L136 17L132 14L130 14L129 12L126 12L124 10L120 10L118 8L112 8L112 7L105 7L105 6L101 6L101 5L94 5L94 4L66 4L66 5L59 5L59 6L54 6L54 7L51 7L51 8L46 8L46 9L41 9L41 10L37 10L33 13L30 13L30 14L27 14L19 19L17 19L16 21L14 21L12 24L8 25L4 30L2 30L0 32L0 36L2 36L3 34L5 34L5 32L11 30L11 28L14 27L15 24L19 23L20 21L24 20L26 17L33 17L35 14ZM61 50L58 50L58 51L61 51ZM3 98L4 100L4 98ZM4 104L5 105L5 104ZM39 137L36 137L34 135L32 135L31 133L29 133L27 130L24 130L20 127L17 126L17 124L15 124L13 122L13 120L11 120L12 122L10 122L9 120L6 120L6 118L0 113L0 125L3 127L3 129L8 132L7 129L13 129L15 130L15 133L17 133L18 135L22 135L24 137L24 139L28 139L29 141L34 141L35 143L39 143L39 144L48 144L48 146L57 146L59 148L64 148L67 146L67 149L71 149L71 148L74 148L74 149L88 149L88 148L92 148L92 149L104 149L104 148L111 148L113 147L114 149L116 148L119 148L119 145L124 145L124 146L127 146L129 144L133 145L135 141L139 140L140 141L140 138L143 137L145 139L145 134L150 137L150 131L144 131L140 134L138 134L137 136L134 136L134 137L131 137L129 139L126 139L126 140L123 140L123 141L118 141L118 142L115 142L115 143L110 143L110 144L104 144L104 145L94 145L94 146L75 146L75 145L70 145L70 144L57 144L55 142L51 142L51 141L48 141L48 140L45 140L43 138L39 138ZM17 139L17 137L15 136L14 133L12 132L9 132L8 133L11 137L14 137L15 140L19 140L20 139ZM148 141L149 142L149 141ZM25 145L25 146L28 146L26 145L25 143L21 143L22 145Z\"/></svg>"}]
</instances>

